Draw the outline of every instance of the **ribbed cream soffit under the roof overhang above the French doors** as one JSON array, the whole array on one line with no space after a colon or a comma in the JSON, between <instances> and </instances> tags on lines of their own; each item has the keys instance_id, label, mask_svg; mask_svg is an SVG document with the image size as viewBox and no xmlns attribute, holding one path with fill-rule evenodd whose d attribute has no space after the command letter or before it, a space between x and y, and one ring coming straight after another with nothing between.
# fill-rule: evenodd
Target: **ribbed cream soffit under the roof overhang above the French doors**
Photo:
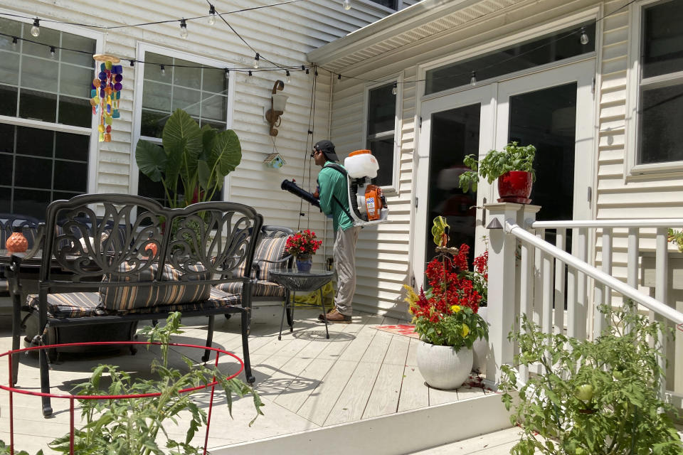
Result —
<instances>
[{"instance_id":1,"label":"ribbed cream soffit under the roof overhang above the French doors","mask_svg":"<svg viewBox=\"0 0 683 455\"><path fill-rule=\"evenodd\" d=\"M408 26L401 27L400 23L396 23L396 19L400 19L399 16L407 13L409 9L422 6L421 4L435 3L423 0L409 9L398 11L344 38L313 50L308 55L309 61L324 65L329 70L339 71L524 1L526 0L440 1L438 8L428 8L418 15L406 17L405 22ZM438 13L435 10L439 10ZM390 18L394 19L394 23L388 21Z\"/></svg>"}]
</instances>

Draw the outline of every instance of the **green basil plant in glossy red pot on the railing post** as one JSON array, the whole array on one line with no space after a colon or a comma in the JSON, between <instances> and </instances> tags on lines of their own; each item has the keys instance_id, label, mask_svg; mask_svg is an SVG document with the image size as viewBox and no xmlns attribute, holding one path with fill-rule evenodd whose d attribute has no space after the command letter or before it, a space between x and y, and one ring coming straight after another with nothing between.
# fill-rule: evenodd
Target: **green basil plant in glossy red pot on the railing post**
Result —
<instances>
[{"instance_id":1,"label":"green basil plant in glossy red pot on the railing post","mask_svg":"<svg viewBox=\"0 0 683 455\"><path fill-rule=\"evenodd\" d=\"M536 180L535 155L536 147L521 146L514 141L502 151L489 151L482 161L477 161L475 155L467 155L463 162L472 171L460 174L460 188L465 193L470 188L476 191L479 176L489 183L498 179L498 202L531 203L531 183Z\"/></svg>"}]
</instances>

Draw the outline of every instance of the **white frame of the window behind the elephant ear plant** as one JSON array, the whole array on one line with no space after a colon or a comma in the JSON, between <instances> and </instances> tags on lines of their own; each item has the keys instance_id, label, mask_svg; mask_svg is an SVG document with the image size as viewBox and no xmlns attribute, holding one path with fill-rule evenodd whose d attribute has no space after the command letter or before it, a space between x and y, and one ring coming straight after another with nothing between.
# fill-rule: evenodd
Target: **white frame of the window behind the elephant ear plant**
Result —
<instances>
[{"instance_id":1,"label":"white frame of the window behind the elephant ear plant","mask_svg":"<svg viewBox=\"0 0 683 455\"><path fill-rule=\"evenodd\" d=\"M139 61L144 61L144 54L147 52L157 53L166 55L171 58L180 58L181 60L188 60L190 62L197 63L198 65L213 66L214 68L226 68L229 67L228 63L221 60L216 60L214 58L204 57L203 55L197 55L193 53L187 53L182 50L176 50L171 48L166 48L160 45L152 43L144 43L138 41L136 59ZM135 96L133 103L133 134L131 134L131 144L130 144L130 181L129 188L131 194L137 194L139 185L139 168L137 167L137 161L135 161L135 148L137 147L137 141L142 137L140 134L140 123L142 119L142 85L144 81L144 63L135 64ZM233 73L230 75L230 80L228 82L228 102L226 103L226 129L232 129L233 127L233 104L235 100L235 82L237 78ZM158 138L142 137L142 139L150 139L157 141ZM226 176L225 181L223 181L223 199L230 194L230 175Z\"/></svg>"}]
</instances>

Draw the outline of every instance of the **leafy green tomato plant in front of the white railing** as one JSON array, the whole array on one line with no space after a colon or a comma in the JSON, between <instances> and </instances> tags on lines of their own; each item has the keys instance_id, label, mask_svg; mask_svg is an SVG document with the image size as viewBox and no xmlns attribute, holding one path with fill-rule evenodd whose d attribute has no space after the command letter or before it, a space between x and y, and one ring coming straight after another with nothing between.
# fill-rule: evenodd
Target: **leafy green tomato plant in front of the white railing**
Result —
<instances>
[{"instance_id":1,"label":"leafy green tomato plant in front of the white railing","mask_svg":"<svg viewBox=\"0 0 683 455\"><path fill-rule=\"evenodd\" d=\"M660 397L659 340L671 331L637 314L632 301L600 311L611 325L594 341L543 333L526 316L510 334L521 352L514 363L541 366L524 385L502 366L502 400L509 410L517 391L511 419L523 429L512 455L683 454L677 410Z\"/></svg>"}]
</instances>

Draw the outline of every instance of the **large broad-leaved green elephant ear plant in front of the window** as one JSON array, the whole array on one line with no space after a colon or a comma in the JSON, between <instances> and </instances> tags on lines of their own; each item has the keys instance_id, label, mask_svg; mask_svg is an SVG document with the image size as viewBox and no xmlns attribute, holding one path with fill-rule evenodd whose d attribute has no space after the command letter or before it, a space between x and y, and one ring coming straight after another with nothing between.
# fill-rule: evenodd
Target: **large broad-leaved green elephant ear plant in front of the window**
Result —
<instances>
[{"instance_id":1,"label":"large broad-leaved green elephant ear plant in front of the window","mask_svg":"<svg viewBox=\"0 0 683 455\"><path fill-rule=\"evenodd\" d=\"M186 207L211 200L223 180L242 160L242 148L232 129L218 131L199 124L176 109L164 125L163 147L140 139L135 161L153 182L161 182L169 207Z\"/></svg>"}]
</instances>

